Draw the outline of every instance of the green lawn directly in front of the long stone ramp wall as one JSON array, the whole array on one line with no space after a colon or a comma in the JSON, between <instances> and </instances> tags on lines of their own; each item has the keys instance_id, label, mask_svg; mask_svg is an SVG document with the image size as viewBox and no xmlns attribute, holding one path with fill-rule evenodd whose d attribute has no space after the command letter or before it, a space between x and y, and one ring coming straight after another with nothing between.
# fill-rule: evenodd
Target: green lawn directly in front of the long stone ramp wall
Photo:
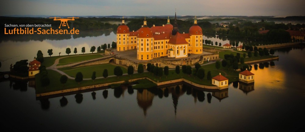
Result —
<instances>
[{"instance_id":1,"label":"green lawn directly in front of the long stone ramp wall","mask_svg":"<svg viewBox=\"0 0 305 132\"><path fill-rule=\"evenodd\" d=\"M113 70L116 66L112 64L102 64L102 65L93 65L93 66L86 66L86 67L80 67L80 68L70 68L70 67L64 67L59 68L58 70L65 72L70 77L75 77L76 73L81 71L83 74L83 78L91 78L92 72L96 72L96 77L102 77L104 69L108 70L108 76L114 75ZM120 66L123 70L123 74L127 73L127 69Z\"/></svg>"}]
</instances>

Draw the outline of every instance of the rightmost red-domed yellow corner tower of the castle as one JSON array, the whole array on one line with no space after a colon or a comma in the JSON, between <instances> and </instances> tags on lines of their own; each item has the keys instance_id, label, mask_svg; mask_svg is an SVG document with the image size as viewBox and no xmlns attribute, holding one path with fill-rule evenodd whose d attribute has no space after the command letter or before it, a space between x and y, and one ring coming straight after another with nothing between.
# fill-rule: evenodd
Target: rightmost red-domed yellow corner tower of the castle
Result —
<instances>
[{"instance_id":1,"label":"rightmost red-domed yellow corner tower of the castle","mask_svg":"<svg viewBox=\"0 0 305 132\"><path fill-rule=\"evenodd\" d=\"M190 35L191 53L202 54L202 29L197 25L197 19L195 16L194 25L188 30Z\"/></svg>"}]
</instances>

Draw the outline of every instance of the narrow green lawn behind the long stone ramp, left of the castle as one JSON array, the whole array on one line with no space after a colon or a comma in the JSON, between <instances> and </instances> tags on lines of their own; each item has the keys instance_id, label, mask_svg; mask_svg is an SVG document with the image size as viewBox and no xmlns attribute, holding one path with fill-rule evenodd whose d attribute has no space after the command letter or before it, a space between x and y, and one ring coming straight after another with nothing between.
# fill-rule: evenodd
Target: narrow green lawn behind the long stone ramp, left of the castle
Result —
<instances>
[{"instance_id":1,"label":"narrow green lawn behind the long stone ramp, left of the castle","mask_svg":"<svg viewBox=\"0 0 305 132\"><path fill-rule=\"evenodd\" d=\"M97 59L100 57L103 57L103 56L101 54L70 56L70 57L60 59L59 64L57 64L57 66Z\"/></svg>"}]
</instances>

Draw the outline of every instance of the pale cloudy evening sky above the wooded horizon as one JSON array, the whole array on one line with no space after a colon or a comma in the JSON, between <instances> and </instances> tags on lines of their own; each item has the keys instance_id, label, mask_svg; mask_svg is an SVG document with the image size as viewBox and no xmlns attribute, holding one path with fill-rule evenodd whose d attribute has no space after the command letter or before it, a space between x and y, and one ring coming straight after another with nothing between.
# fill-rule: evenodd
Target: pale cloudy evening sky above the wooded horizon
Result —
<instances>
[{"instance_id":1,"label":"pale cloudy evening sky above the wooded horizon","mask_svg":"<svg viewBox=\"0 0 305 132\"><path fill-rule=\"evenodd\" d=\"M0 16L305 16L304 0L7 0Z\"/></svg>"}]
</instances>

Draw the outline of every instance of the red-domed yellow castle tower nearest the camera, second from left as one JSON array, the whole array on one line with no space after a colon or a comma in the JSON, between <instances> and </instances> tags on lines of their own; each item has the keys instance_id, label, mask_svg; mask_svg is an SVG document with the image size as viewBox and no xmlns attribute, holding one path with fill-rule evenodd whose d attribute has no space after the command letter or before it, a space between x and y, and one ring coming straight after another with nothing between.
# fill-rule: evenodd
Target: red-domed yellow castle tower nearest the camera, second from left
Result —
<instances>
[{"instance_id":1,"label":"red-domed yellow castle tower nearest the camera, second from left","mask_svg":"<svg viewBox=\"0 0 305 132\"><path fill-rule=\"evenodd\" d=\"M144 19L144 25L137 33L137 59L151 60L153 58L152 43L154 42L154 38L152 36L152 30L146 24L146 18Z\"/></svg>"}]
</instances>

